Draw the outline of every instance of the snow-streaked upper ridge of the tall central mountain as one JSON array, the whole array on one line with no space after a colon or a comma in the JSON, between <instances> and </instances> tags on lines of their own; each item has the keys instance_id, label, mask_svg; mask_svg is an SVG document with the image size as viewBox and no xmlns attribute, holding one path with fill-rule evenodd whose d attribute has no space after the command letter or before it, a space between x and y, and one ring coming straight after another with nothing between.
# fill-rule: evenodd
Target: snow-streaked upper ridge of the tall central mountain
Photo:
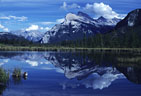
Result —
<instances>
[{"instance_id":1,"label":"snow-streaked upper ridge of the tall central mountain","mask_svg":"<svg viewBox=\"0 0 141 96\"><path fill-rule=\"evenodd\" d=\"M81 23L88 23L88 24L93 24L93 25L112 25L115 26L121 19L118 18L112 18L112 19L106 19L104 17L99 17L98 19L93 19L87 14L83 12L78 12L78 14L73 14L73 13L68 13L66 15L65 21L63 22L63 25L74 25L76 26L77 24ZM75 27L76 28L76 27Z\"/></svg>"}]
</instances>

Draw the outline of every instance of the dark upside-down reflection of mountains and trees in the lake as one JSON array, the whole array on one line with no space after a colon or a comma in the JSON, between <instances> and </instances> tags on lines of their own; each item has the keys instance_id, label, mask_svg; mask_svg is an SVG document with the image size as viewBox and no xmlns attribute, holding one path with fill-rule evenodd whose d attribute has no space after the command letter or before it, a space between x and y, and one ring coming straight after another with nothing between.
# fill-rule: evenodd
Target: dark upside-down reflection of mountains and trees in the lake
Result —
<instances>
[{"instance_id":1,"label":"dark upside-down reflection of mountains and trees in the lake","mask_svg":"<svg viewBox=\"0 0 141 96\"><path fill-rule=\"evenodd\" d=\"M22 61L26 66L32 68L56 70L57 73L63 73L68 79L86 80L90 74L94 75L92 81L101 80L99 77L105 77L102 81L107 81L107 76L114 81L117 77L127 78L129 81L141 84L140 61L128 60L127 58L139 58L138 54L109 54L109 53L54 53L54 52L1 52L0 59ZM124 60L122 61L122 58ZM4 60L0 65L9 66ZM56 68L52 68L50 65ZM131 66L132 65L132 66ZM9 66L10 68L12 66ZM124 75L123 75L124 74ZM96 78L96 77L98 78ZM115 78L116 77L116 78ZM115 78L115 79L114 79ZM108 83L108 82L107 82ZM70 84L70 83L69 83ZM102 83L103 84L103 83ZM101 84L100 84L101 85ZM104 83L105 85L105 83Z\"/></svg>"}]
</instances>

